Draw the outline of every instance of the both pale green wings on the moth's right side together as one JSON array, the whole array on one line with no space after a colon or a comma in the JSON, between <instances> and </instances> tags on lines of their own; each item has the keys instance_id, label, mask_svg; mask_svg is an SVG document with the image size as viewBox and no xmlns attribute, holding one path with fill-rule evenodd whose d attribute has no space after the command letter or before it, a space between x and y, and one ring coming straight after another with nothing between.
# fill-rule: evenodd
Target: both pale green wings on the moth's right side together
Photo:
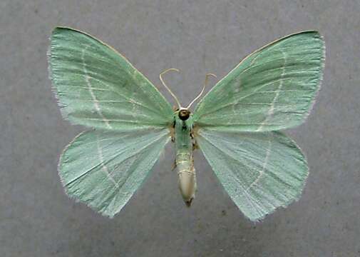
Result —
<instances>
[{"instance_id":1,"label":"both pale green wings on the moth's right side together","mask_svg":"<svg viewBox=\"0 0 360 257\"><path fill-rule=\"evenodd\" d=\"M324 49L316 31L274 41L241 61L195 109L202 153L252 221L297 200L304 188L308 168L297 145L260 132L304 121L319 91Z\"/></svg>"}]
</instances>

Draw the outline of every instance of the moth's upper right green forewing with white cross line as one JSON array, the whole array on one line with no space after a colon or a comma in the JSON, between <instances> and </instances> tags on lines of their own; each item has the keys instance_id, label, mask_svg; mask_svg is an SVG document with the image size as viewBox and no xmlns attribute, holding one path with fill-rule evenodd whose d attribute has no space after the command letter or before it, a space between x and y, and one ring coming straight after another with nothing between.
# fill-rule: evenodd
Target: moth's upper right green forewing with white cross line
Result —
<instances>
[{"instance_id":1,"label":"moth's upper right green forewing with white cross line","mask_svg":"<svg viewBox=\"0 0 360 257\"><path fill-rule=\"evenodd\" d=\"M316 31L292 34L247 56L197 104L198 126L274 131L301 124L319 90L324 41Z\"/></svg>"}]
</instances>

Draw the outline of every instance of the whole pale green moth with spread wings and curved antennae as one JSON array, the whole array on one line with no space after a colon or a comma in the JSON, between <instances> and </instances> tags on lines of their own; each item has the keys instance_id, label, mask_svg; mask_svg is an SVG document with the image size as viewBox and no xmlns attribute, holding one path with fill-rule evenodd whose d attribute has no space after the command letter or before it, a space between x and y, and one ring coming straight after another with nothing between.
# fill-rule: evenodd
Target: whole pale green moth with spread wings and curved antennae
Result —
<instances>
[{"instance_id":1,"label":"whole pale green moth with spread wings and curved antennae","mask_svg":"<svg viewBox=\"0 0 360 257\"><path fill-rule=\"evenodd\" d=\"M178 104L173 109L110 46L57 27L48 62L61 113L71 124L93 128L76 136L61 155L58 172L66 193L113 217L171 140L187 206L196 191L196 148L250 220L287 206L299 198L309 172L299 147L279 130L302 124L308 116L322 80L324 49L317 31L267 44L243 59L190 111L212 74L186 108L163 83Z\"/></svg>"}]
</instances>

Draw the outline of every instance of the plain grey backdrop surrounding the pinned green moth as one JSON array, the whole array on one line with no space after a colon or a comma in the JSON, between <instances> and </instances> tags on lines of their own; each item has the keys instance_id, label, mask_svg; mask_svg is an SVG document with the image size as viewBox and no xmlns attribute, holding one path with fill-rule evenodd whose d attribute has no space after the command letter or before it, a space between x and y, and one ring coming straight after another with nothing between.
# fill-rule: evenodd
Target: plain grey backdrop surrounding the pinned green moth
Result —
<instances>
[{"instance_id":1,"label":"plain grey backdrop surrounding the pinned green moth","mask_svg":"<svg viewBox=\"0 0 360 257\"><path fill-rule=\"evenodd\" d=\"M360 256L359 0L75 2L0 2L0 256ZM319 30L322 90L307 123L287 131L309 161L302 198L252 223L196 153L185 208L169 145L115 218L74 203L56 165L83 128L63 121L51 93L56 25L106 41L157 86L160 71L180 69L166 79L184 104L207 72L222 77L269 41Z\"/></svg>"}]
</instances>

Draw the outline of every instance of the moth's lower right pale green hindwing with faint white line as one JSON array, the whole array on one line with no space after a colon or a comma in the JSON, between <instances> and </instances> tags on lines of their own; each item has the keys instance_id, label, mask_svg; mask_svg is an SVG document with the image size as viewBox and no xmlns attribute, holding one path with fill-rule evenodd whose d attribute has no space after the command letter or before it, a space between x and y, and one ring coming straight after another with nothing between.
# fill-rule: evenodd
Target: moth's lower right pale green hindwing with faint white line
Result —
<instances>
[{"instance_id":1,"label":"moth's lower right pale green hindwing with faint white line","mask_svg":"<svg viewBox=\"0 0 360 257\"><path fill-rule=\"evenodd\" d=\"M279 132L197 131L202 153L240 211L258 221L299 199L308 176L297 145Z\"/></svg>"}]
</instances>

